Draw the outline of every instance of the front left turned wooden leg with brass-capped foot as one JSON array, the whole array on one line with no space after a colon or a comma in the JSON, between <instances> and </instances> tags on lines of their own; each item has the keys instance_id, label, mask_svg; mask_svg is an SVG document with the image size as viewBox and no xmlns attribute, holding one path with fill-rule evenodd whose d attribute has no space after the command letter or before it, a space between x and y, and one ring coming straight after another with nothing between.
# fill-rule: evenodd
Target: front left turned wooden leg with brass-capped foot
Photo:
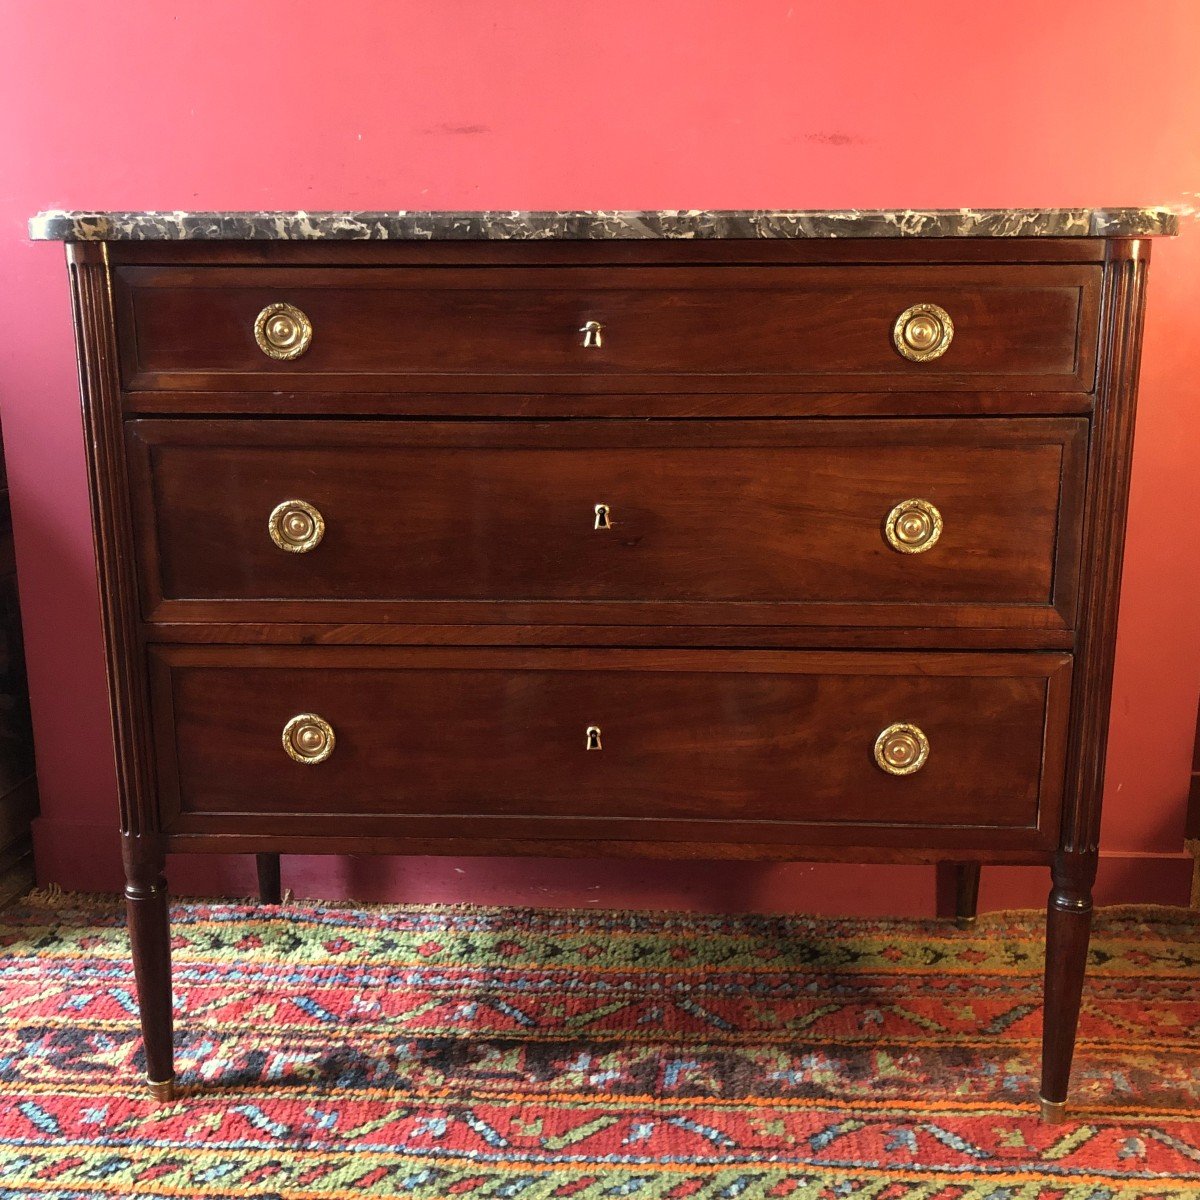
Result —
<instances>
[{"instance_id":1,"label":"front left turned wooden leg with brass-capped foot","mask_svg":"<svg viewBox=\"0 0 1200 1200\"><path fill-rule=\"evenodd\" d=\"M133 978L142 1016L146 1082L156 1100L175 1094L170 995L170 918L161 851L125 838L125 911L133 950Z\"/></svg>"}]
</instances>

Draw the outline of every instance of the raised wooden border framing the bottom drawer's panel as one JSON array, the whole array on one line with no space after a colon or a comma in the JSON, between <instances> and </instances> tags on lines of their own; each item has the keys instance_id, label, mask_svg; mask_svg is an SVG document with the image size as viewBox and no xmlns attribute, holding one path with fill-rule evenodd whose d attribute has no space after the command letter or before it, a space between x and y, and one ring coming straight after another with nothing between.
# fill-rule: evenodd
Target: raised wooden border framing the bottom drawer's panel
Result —
<instances>
[{"instance_id":1,"label":"raised wooden border framing the bottom drawer's panel","mask_svg":"<svg viewBox=\"0 0 1200 1200\"><path fill-rule=\"evenodd\" d=\"M1038 776L1036 823L1010 826L936 826L906 822L818 822L743 821L718 818L601 818L497 816L493 814L246 814L182 812L172 672L175 668L266 668L302 670L386 670L430 671L587 671L665 672L713 674L846 674L1034 678L1045 683L1045 707ZM318 836L346 834L347 828L368 838L404 836L430 839L446 836L446 830L463 830L469 839L557 839L641 841L654 833L668 841L710 839L714 842L754 842L757 838L780 840L792 846L851 846L870 842L871 832L887 832L902 846L965 845L976 848L1045 850L1055 844L1062 812L1069 696L1073 659L1051 652L906 653L856 650L650 650L577 648L488 648L470 647L244 647L244 646L154 646L148 648L148 668L156 713L155 743L158 805L164 830L172 836L234 834L274 830ZM294 828L290 828L294 827ZM656 839L654 839L656 840Z\"/></svg>"}]
</instances>

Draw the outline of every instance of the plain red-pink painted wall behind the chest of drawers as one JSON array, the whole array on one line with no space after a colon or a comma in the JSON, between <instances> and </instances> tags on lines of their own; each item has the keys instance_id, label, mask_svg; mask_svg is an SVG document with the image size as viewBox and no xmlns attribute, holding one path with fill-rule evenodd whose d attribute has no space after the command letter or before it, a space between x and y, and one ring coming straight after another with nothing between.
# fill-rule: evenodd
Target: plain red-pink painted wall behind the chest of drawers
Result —
<instances>
[{"instance_id":1,"label":"plain red-pink painted wall behind the chest of drawers","mask_svg":"<svg viewBox=\"0 0 1200 1200\"><path fill-rule=\"evenodd\" d=\"M1186 896L1200 678L1200 5L1021 0L8 0L0 397L43 882L118 884L62 250L47 206L821 208L1165 203L1133 480L1102 896ZM922 911L923 868L296 862L308 894ZM173 864L245 892L246 860ZM985 872L1040 902L1045 872Z\"/></svg>"}]
</instances>

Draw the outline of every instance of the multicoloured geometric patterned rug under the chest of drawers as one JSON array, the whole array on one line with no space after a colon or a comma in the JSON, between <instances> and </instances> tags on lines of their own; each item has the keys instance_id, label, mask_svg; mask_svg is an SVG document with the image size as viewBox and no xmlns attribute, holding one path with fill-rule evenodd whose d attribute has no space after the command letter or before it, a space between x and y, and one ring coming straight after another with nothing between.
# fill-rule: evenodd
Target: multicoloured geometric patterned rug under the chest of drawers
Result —
<instances>
[{"instance_id":1,"label":"multicoloured geometric patterned rug under the chest of drawers","mask_svg":"<svg viewBox=\"0 0 1200 1200\"><path fill-rule=\"evenodd\" d=\"M1075 1120L1034 1112L1042 922L174 911L184 1093L121 911L0 912L0 1198L1200 1196L1200 928L1100 914Z\"/></svg>"}]
</instances>

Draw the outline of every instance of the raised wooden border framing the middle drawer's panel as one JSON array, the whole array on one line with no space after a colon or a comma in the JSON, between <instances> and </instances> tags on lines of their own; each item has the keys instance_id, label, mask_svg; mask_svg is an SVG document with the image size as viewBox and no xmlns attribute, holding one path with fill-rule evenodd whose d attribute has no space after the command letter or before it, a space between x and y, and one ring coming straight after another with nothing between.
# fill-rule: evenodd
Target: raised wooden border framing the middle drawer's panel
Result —
<instances>
[{"instance_id":1,"label":"raised wooden border framing the middle drawer's panel","mask_svg":"<svg viewBox=\"0 0 1200 1200\"><path fill-rule=\"evenodd\" d=\"M486 600L486 599L205 599L164 598L160 590L152 456L158 445L308 449L328 444L378 449L488 449L569 452L596 449L769 449L874 446L902 431L925 445L1013 448L1051 445L1062 455L1058 521L1050 593L1044 604L943 601L738 600ZM742 625L798 628L978 628L1070 630L1076 614L1088 425L1084 418L811 421L294 421L145 419L125 425L142 611L151 623L305 622L449 625ZM898 497L899 499L900 497ZM881 512L881 518L882 518ZM264 517L265 520L265 517Z\"/></svg>"}]
</instances>

